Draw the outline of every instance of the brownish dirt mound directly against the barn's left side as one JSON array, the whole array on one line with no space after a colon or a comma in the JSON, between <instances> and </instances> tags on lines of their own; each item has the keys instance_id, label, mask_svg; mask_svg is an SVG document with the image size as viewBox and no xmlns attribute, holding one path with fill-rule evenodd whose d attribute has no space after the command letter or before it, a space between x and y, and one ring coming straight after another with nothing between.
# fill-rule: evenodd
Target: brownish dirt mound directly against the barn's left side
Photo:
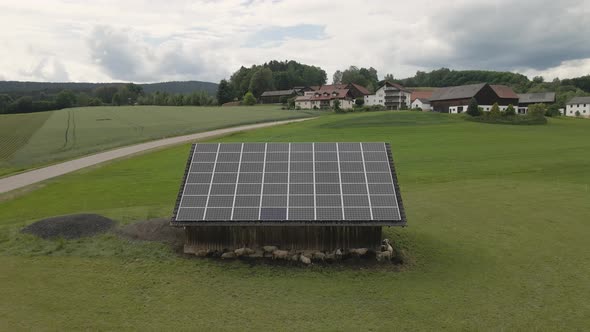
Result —
<instances>
[{"instance_id":1,"label":"brownish dirt mound directly against the barn's left side","mask_svg":"<svg viewBox=\"0 0 590 332\"><path fill-rule=\"evenodd\" d=\"M140 240L164 242L173 246L182 246L184 230L170 226L170 219L157 218L126 225L118 230L124 237Z\"/></svg>"}]
</instances>

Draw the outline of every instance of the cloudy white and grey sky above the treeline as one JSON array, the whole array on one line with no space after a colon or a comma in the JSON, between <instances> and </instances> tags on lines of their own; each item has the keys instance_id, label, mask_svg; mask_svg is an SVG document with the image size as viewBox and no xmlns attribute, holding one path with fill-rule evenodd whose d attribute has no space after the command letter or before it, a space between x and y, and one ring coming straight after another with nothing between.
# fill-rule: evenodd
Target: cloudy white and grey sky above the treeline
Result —
<instances>
[{"instance_id":1,"label":"cloudy white and grey sky above the treeline","mask_svg":"<svg viewBox=\"0 0 590 332\"><path fill-rule=\"evenodd\" d=\"M217 82L296 60L379 77L590 73L588 0L0 0L0 80Z\"/></svg>"}]
</instances>

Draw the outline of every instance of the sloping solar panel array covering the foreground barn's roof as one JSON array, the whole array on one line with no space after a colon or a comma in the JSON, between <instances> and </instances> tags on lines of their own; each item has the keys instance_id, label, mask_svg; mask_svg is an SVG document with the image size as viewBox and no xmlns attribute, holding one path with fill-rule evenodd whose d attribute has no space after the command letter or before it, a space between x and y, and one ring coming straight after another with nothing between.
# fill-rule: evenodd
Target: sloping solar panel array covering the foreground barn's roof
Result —
<instances>
[{"instance_id":1,"label":"sloping solar panel array covering the foreground barn's roof","mask_svg":"<svg viewBox=\"0 0 590 332\"><path fill-rule=\"evenodd\" d=\"M177 225L405 225L386 143L198 143Z\"/></svg>"}]
</instances>

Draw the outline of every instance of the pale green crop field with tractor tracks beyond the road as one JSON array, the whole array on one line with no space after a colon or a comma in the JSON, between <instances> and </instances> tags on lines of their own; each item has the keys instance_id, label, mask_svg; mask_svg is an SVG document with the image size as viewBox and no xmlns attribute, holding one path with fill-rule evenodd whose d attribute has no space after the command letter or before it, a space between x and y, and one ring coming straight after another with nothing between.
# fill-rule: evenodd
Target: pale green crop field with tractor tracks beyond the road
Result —
<instances>
[{"instance_id":1,"label":"pale green crop field with tractor tracks beyond the road","mask_svg":"<svg viewBox=\"0 0 590 332\"><path fill-rule=\"evenodd\" d=\"M276 107L86 107L0 115L0 176L119 146L309 116Z\"/></svg>"}]
</instances>

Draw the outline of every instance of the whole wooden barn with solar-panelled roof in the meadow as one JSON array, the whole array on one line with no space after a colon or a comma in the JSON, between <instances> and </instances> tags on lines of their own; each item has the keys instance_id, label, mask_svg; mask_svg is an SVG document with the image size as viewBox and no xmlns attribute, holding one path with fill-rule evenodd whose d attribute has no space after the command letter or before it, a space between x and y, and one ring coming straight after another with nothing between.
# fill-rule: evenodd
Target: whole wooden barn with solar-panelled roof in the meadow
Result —
<instances>
[{"instance_id":1,"label":"whole wooden barn with solar-panelled roof in the meadow","mask_svg":"<svg viewBox=\"0 0 590 332\"><path fill-rule=\"evenodd\" d=\"M195 144L171 220L186 253L376 249L405 224L385 143Z\"/></svg>"}]
</instances>

